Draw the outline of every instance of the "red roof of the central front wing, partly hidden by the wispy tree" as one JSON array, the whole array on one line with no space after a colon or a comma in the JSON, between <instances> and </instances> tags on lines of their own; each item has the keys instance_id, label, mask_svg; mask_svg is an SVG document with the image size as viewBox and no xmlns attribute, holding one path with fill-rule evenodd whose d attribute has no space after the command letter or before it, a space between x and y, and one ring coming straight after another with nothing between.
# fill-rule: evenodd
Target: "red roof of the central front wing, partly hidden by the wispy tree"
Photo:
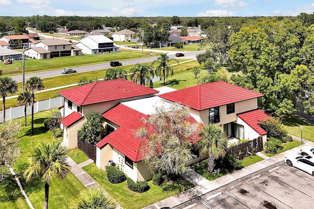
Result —
<instances>
[{"instance_id":1,"label":"red roof of the central front wing, partly hidden by the wispy tree","mask_svg":"<svg viewBox=\"0 0 314 209\"><path fill-rule=\"evenodd\" d=\"M136 137L134 131L145 125L142 118L146 118L148 115L140 113L124 104L118 104L106 111L103 117L118 125L119 128L98 142L96 146L103 148L106 144L110 144L122 154L129 157L133 162L143 160L142 151L145 150L147 143L143 142L141 138ZM197 123L193 117L189 117L187 122Z\"/></svg>"}]
</instances>

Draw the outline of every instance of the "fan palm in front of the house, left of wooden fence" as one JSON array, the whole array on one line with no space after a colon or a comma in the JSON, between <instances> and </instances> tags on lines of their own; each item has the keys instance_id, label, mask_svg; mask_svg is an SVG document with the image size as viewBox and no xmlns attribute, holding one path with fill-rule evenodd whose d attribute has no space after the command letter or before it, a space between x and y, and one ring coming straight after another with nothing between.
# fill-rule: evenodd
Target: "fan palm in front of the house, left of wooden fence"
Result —
<instances>
[{"instance_id":1,"label":"fan palm in front of the house, left of wooden fence","mask_svg":"<svg viewBox=\"0 0 314 209\"><path fill-rule=\"evenodd\" d=\"M199 132L199 136L201 138L197 140L196 147L202 154L208 154L208 172L212 173L215 159L226 155L226 135L218 126L209 124Z\"/></svg>"}]
</instances>

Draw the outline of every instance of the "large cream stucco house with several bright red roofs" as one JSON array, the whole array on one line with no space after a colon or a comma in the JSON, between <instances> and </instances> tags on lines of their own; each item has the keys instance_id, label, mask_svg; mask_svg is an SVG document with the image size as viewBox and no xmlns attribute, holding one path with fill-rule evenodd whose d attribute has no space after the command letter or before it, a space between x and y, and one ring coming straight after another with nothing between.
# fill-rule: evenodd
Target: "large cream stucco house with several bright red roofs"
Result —
<instances>
[{"instance_id":1,"label":"large cream stucco house with several bright red roofs","mask_svg":"<svg viewBox=\"0 0 314 209\"><path fill-rule=\"evenodd\" d=\"M96 144L95 163L104 167L114 163L133 181L150 180L151 172L143 161L145 143L134 136L153 112L153 105L182 104L189 107L190 123L221 127L229 141L262 137L266 131L259 124L268 116L258 109L263 95L223 81L175 90L169 87L151 89L125 79L98 81L58 92L64 97L61 108L63 144L78 147L78 130L86 117L98 111L103 116L104 138ZM207 156L193 160L200 161Z\"/></svg>"}]
</instances>

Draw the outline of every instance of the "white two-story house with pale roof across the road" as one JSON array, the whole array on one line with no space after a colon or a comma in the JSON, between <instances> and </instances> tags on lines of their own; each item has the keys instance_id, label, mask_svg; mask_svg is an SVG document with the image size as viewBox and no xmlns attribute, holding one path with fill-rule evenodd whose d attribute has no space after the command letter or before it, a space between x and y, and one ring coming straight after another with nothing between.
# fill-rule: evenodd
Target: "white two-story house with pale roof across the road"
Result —
<instances>
[{"instance_id":1,"label":"white two-story house with pale roof across the road","mask_svg":"<svg viewBox=\"0 0 314 209\"><path fill-rule=\"evenodd\" d=\"M82 53L98 54L119 52L119 47L105 35L88 35L78 40L75 44L82 49Z\"/></svg>"}]
</instances>

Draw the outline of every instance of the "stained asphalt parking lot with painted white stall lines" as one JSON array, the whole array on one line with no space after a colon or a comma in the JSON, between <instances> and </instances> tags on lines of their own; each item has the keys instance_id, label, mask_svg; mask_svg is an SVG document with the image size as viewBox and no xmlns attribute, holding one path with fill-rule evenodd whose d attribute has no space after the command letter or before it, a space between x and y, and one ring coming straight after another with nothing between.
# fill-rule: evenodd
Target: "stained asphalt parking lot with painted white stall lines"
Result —
<instances>
[{"instance_id":1,"label":"stained asphalt parking lot with painted white stall lines","mask_svg":"<svg viewBox=\"0 0 314 209\"><path fill-rule=\"evenodd\" d=\"M304 209L314 207L314 177L282 160L174 209Z\"/></svg>"}]
</instances>

